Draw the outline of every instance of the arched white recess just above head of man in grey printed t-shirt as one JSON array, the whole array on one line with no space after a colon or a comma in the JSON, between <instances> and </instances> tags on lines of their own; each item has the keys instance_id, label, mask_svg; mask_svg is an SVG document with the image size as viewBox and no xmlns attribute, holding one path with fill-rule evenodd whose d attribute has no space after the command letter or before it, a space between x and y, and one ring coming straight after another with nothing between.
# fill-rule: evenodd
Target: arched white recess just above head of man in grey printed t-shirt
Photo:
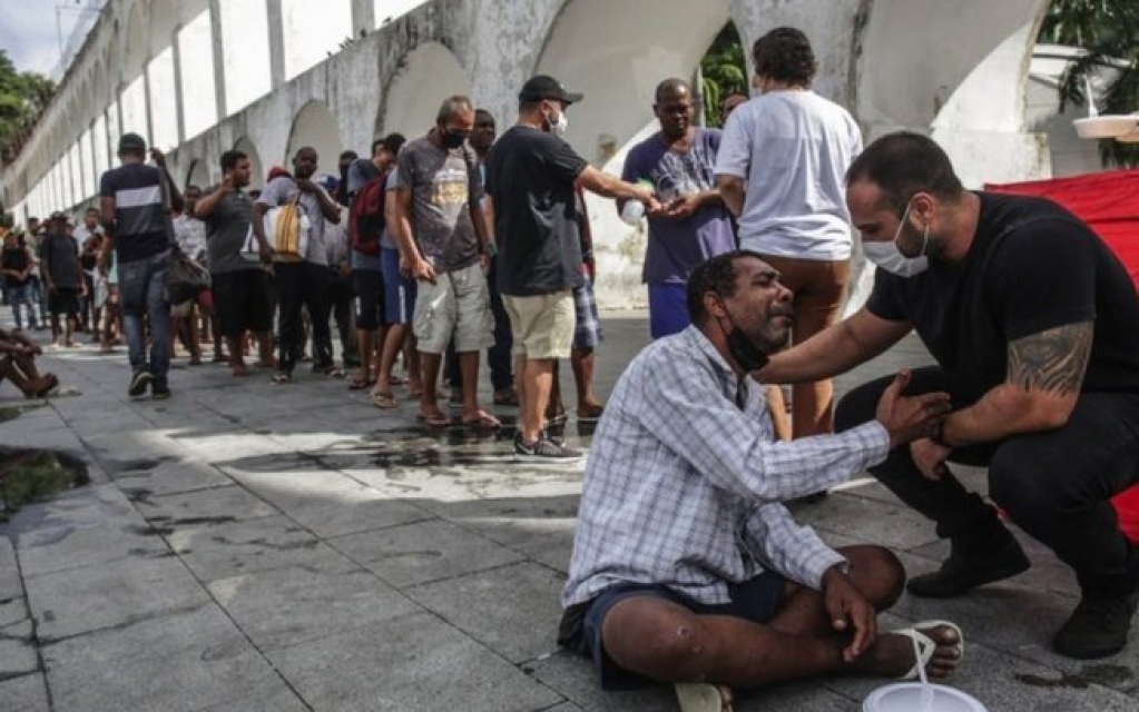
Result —
<instances>
[{"instance_id":1,"label":"arched white recess just above head of man in grey printed t-shirt","mask_svg":"<svg viewBox=\"0 0 1139 712\"><path fill-rule=\"evenodd\" d=\"M470 94L470 78L441 42L424 42L400 60L379 105L376 135L399 132L409 139L427 133L443 100Z\"/></svg>"}]
</instances>

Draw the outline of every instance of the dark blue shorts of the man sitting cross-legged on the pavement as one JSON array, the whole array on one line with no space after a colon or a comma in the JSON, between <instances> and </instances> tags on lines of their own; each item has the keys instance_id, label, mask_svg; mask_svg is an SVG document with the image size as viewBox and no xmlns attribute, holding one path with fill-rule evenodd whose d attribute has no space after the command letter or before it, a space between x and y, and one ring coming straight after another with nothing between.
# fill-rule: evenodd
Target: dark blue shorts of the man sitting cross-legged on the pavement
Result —
<instances>
[{"instance_id":1,"label":"dark blue shorts of the man sitting cross-legged on the pavement","mask_svg":"<svg viewBox=\"0 0 1139 712\"><path fill-rule=\"evenodd\" d=\"M617 583L588 601L566 608L558 630L558 643L593 661L601 689L637 689L653 680L625 670L609 657L601 643L601 627L609 611L633 596L649 596L681 605L700 615L731 615L767 623L787 598L787 579L775 571L764 571L743 583L729 585L731 602L707 605L697 603L661 583Z\"/></svg>"}]
</instances>

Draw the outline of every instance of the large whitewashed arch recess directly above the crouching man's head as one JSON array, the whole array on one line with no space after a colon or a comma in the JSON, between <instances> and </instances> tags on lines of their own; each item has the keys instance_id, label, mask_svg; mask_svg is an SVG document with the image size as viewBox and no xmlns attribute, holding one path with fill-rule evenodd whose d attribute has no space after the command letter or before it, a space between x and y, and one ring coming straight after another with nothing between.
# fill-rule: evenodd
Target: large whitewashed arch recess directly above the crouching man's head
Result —
<instances>
[{"instance_id":1,"label":"large whitewashed arch recess directly above the crouching man's head","mask_svg":"<svg viewBox=\"0 0 1139 712\"><path fill-rule=\"evenodd\" d=\"M1026 133L1025 92L1050 2L968 5L875 0L857 66L866 138L899 129L928 133L970 187L1044 177L1048 150ZM931 51L934 39L942 41Z\"/></svg>"}]
</instances>

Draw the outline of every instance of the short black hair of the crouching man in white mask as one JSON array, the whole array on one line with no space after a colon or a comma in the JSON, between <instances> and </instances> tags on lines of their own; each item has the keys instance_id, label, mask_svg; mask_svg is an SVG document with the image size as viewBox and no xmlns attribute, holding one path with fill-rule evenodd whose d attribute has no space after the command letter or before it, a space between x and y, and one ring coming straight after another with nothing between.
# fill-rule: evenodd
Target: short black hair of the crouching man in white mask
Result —
<instances>
[{"instance_id":1,"label":"short black hair of the crouching man in white mask","mask_svg":"<svg viewBox=\"0 0 1139 712\"><path fill-rule=\"evenodd\" d=\"M949 156L929 136L887 133L866 147L846 171L846 184L869 181L882 190L883 207L901 214L913 193L957 202L965 192Z\"/></svg>"}]
</instances>

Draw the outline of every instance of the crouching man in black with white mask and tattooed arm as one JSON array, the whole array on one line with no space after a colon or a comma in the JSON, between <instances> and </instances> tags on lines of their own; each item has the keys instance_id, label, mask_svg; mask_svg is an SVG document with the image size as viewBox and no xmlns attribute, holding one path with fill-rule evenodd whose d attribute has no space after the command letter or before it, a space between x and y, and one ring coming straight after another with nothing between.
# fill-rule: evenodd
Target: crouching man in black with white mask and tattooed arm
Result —
<instances>
[{"instance_id":1,"label":"crouching man in black with white mask and tattooed arm","mask_svg":"<svg viewBox=\"0 0 1139 712\"><path fill-rule=\"evenodd\" d=\"M1109 502L1139 482L1139 304L1126 271L1054 202L964 190L945 154L917 134L874 142L846 183L879 267L874 291L854 316L772 356L762 380L829 378L917 331L937 365L916 370L910 392L949 391L954 412L939 436L870 469L952 544L910 594L957 596L1029 568L995 510L947 462L988 466L991 498L1075 570L1081 601L1055 649L1117 653L1139 603L1139 549ZM872 416L890 381L847 395L837 428Z\"/></svg>"}]
</instances>

